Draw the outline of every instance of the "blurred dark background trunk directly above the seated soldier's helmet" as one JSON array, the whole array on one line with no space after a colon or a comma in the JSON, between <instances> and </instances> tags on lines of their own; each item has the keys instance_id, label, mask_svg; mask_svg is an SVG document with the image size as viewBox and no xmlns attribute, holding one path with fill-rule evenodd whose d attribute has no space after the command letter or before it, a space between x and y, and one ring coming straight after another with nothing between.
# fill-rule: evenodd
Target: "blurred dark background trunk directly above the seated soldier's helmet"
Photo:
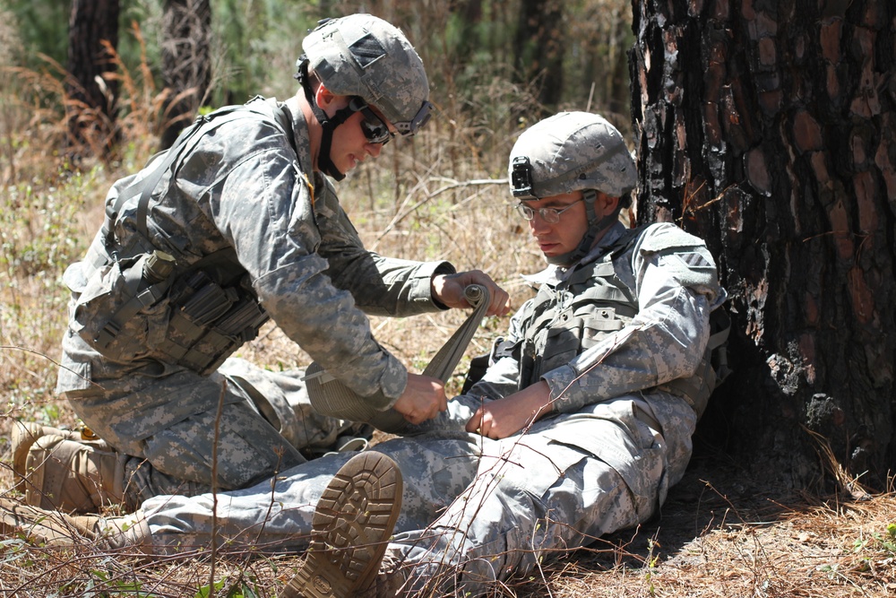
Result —
<instances>
[{"instance_id":1,"label":"blurred dark background trunk directly above the seated soldier's helmet","mask_svg":"<svg viewBox=\"0 0 896 598\"><path fill-rule=\"evenodd\" d=\"M538 100L554 107L563 92L562 0L522 0L513 51L521 81L538 81ZM552 110L548 110L552 111Z\"/></svg>"}]
</instances>

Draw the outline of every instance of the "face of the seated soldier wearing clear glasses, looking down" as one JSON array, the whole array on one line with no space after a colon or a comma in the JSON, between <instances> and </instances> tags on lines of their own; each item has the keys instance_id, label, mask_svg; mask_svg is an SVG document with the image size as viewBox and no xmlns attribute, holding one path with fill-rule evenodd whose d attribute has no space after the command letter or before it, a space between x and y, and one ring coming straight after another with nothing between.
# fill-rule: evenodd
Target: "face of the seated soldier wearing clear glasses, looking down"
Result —
<instances>
[{"instance_id":1,"label":"face of the seated soldier wearing clear glasses, looking down","mask_svg":"<svg viewBox=\"0 0 896 598\"><path fill-rule=\"evenodd\" d=\"M582 192L574 191L564 195L553 195L539 200L523 202L534 212L529 221L532 236L538 242L538 248L546 257L563 256L576 247L588 230L588 215ZM546 221L538 212L542 208L551 208L560 214L560 220L554 223Z\"/></svg>"}]
</instances>

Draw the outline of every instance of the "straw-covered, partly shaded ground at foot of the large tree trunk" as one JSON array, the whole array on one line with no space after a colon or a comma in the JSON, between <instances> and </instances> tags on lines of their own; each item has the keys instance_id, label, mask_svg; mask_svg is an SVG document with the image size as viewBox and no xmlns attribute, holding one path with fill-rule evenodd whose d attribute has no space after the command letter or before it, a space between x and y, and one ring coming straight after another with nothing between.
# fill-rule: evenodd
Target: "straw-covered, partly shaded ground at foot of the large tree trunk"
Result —
<instances>
[{"instance_id":1,"label":"straw-covered, partly shaded ground at foot of the large tree trunk","mask_svg":"<svg viewBox=\"0 0 896 598\"><path fill-rule=\"evenodd\" d=\"M813 498L756 488L695 459L661 515L558 561L519 595L782 597L896 595L896 497ZM530 583L531 584L531 583Z\"/></svg>"}]
</instances>

